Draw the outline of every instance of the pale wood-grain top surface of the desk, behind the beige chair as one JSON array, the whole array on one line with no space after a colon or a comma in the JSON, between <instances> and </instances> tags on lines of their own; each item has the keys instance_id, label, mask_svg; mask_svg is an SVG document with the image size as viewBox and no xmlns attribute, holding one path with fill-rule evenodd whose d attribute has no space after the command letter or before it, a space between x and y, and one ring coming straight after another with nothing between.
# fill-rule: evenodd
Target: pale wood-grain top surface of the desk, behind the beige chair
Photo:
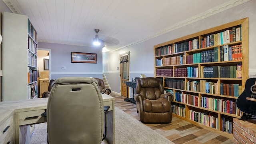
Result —
<instances>
[{"instance_id":1,"label":"pale wood-grain top surface of the desk, behind the beige chair","mask_svg":"<svg viewBox=\"0 0 256 144\"><path fill-rule=\"evenodd\" d=\"M102 99L103 102L115 100L115 98L107 94L102 94ZM5 122L11 115L14 114L14 112L46 109L47 102L48 98L0 102L0 124Z\"/></svg>"}]
</instances>

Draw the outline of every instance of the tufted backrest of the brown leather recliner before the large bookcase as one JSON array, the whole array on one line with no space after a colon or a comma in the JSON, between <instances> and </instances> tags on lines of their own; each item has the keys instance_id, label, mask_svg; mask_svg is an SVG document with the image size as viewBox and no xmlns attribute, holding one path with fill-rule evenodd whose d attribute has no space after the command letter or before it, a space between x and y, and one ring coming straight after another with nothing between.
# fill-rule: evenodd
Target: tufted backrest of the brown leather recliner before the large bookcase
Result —
<instances>
[{"instance_id":1,"label":"tufted backrest of the brown leather recliner before the large bookcase","mask_svg":"<svg viewBox=\"0 0 256 144\"><path fill-rule=\"evenodd\" d=\"M156 100L164 93L161 80L153 77L136 79L136 94L141 93L144 98Z\"/></svg>"}]
</instances>

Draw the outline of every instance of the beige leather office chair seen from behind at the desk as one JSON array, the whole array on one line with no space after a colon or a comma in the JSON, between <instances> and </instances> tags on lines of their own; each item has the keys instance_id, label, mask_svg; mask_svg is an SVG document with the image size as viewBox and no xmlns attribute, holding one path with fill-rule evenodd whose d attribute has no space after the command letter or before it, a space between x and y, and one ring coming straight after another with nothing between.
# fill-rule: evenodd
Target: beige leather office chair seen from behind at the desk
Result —
<instances>
[{"instance_id":1,"label":"beige leather office chair seen from behind at the desk","mask_svg":"<svg viewBox=\"0 0 256 144\"><path fill-rule=\"evenodd\" d=\"M50 144L100 144L106 136L102 95L94 78L55 80L46 112Z\"/></svg>"}]
</instances>

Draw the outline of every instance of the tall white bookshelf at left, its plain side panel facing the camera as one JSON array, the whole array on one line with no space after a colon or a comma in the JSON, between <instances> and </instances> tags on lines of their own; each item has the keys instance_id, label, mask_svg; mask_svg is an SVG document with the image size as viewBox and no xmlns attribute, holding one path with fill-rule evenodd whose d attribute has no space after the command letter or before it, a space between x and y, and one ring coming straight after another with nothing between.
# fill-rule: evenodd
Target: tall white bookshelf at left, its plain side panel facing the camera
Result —
<instances>
[{"instance_id":1,"label":"tall white bookshelf at left, its plain side panel facing the camera","mask_svg":"<svg viewBox=\"0 0 256 144\"><path fill-rule=\"evenodd\" d=\"M37 98L37 32L28 16L2 15L2 100Z\"/></svg>"}]
</instances>

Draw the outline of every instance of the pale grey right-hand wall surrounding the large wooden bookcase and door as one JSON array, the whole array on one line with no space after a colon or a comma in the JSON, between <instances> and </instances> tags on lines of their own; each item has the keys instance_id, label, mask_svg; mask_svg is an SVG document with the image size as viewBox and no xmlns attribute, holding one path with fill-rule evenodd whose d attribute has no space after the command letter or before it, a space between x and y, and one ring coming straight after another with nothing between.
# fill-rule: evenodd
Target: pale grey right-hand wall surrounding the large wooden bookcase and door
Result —
<instances>
[{"instance_id":1,"label":"pale grey right-hand wall surrounding the large wooden bookcase and door","mask_svg":"<svg viewBox=\"0 0 256 144\"><path fill-rule=\"evenodd\" d=\"M212 16L202 16L199 21L190 23L178 29L156 36L144 42L110 52L104 56L104 74L108 79L108 83L113 91L120 93L120 73L116 68L120 66L119 55L130 51L130 78L138 77L141 73L146 76L154 76L154 54L153 46L169 40L180 38L189 34L200 32L208 28L226 24L235 20L249 17L249 74L253 77L256 74L256 63L254 54L256 53L256 0L251 0L234 8L224 10ZM189 22L188 22L189 23ZM171 26L172 24L170 24ZM105 64L107 66L105 66ZM119 79L117 79L119 78Z\"/></svg>"}]
</instances>

